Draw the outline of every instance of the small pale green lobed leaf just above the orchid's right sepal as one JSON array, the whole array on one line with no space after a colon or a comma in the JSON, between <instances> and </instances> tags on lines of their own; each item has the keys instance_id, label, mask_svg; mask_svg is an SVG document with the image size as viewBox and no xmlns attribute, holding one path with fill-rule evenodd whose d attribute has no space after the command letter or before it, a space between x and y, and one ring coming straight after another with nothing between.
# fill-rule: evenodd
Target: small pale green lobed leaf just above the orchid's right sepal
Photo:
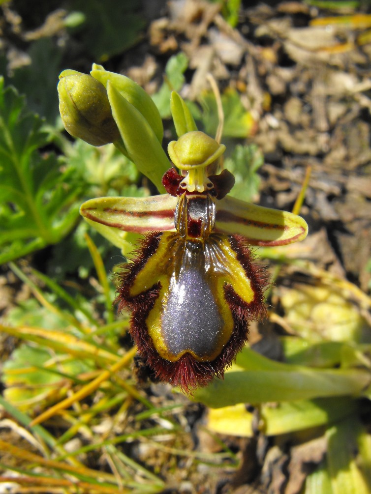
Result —
<instances>
[{"instance_id":1,"label":"small pale green lobed leaf just above the orchid's right sepal","mask_svg":"<svg viewBox=\"0 0 371 494\"><path fill-rule=\"evenodd\" d=\"M258 169L264 164L264 157L256 144L242 146L238 144L232 157L224 162L235 178L230 195L242 201L252 201L259 192L260 177Z\"/></svg>"}]
</instances>

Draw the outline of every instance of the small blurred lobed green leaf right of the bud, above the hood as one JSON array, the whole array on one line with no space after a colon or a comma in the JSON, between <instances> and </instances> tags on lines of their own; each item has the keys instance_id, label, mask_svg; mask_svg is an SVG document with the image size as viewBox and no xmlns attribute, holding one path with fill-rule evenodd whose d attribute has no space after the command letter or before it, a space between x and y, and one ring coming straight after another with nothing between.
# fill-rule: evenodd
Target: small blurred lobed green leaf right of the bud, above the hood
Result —
<instances>
[{"instance_id":1,"label":"small blurred lobed green leaf right of the bud, above the hood","mask_svg":"<svg viewBox=\"0 0 371 494\"><path fill-rule=\"evenodd\" d=\"M152 96L163 119L169 118L171 115L171 93L172 91L180 91L182 89L185 82L184 73L187 67L188 58L182 51L177 55L173 55L166 64L165 82L162 84L159 91Z\"/></svg>"}]
</instances>

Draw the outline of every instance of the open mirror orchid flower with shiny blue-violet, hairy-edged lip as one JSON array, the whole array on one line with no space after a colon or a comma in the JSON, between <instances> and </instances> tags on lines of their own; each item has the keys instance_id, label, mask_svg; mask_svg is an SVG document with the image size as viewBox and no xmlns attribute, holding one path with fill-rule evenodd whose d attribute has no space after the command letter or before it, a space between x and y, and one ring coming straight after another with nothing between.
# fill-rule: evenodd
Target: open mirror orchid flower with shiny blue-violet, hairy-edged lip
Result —
<instances>
[{"instance_id":1,"label":"open mirror orchid flower with shiny blue-violet, hairy-edged lip","mask_svg":"<svg viewBox=\"0 0 371 494\"><path fill-rule=\"evenodd\" d=\"M108 84L107 92L130 150L119 115L126 103L117 88ZM223 377L247 341L249 322L266 313L268 278L250 247L302 240L307 224L229 196L232 173L215 173L225 146L196 129L179 95L172 104L179 139L168 146L173 166L162 176L166 193L91 199L80 211L108 238L143 235L118 275L118 309L131 311L130 333L155 378L191 393ZM145 155L145 139L142 147Z\"/></svg>"}]
</instances>

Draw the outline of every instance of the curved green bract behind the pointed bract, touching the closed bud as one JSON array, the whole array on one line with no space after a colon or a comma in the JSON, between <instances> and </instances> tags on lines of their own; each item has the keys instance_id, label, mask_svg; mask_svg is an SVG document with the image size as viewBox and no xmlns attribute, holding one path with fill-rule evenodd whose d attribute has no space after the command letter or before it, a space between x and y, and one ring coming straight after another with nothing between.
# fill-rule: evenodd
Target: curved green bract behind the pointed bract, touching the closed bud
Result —
<instances>
[{"instance_id":1,"label":"curved green bract behind the pointed bract, touching the closed bud","mask_svg":"<svg viewBox=\"0 0 371 494\"><path fill-rule=\"evenodd\" d=\"M126 76L115 74L104 70L101 65L93 64L93 70L90 72L94 79L101 82L105 88L110 82L130 104L132 104L146 119L155 133L158 141L161 143L164 136L164 127L161 116L153 103L152 98L144 91L137 82L132 81Z\"/></svg>"}]
</instances>

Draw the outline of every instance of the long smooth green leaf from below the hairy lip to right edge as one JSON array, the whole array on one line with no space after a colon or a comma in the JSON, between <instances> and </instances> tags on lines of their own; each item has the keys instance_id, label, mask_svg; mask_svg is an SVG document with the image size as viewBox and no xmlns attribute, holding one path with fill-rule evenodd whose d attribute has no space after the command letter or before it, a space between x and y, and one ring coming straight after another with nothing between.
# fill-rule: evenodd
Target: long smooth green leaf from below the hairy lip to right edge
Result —
<instances>
[{"instance_id":1,"label":"long smooth green leaf from below the hairy lip to right edge","mask_svg":"<svg viewBox=\"0 0 371 494\"><path fill-rule=\"evenodd\" d=\"M319 370L274 362L245 348L224 380L215 379L193 396L212 408L331 396L362 396L370 375L362 370Z\"/></svg>"}]
</instances>

